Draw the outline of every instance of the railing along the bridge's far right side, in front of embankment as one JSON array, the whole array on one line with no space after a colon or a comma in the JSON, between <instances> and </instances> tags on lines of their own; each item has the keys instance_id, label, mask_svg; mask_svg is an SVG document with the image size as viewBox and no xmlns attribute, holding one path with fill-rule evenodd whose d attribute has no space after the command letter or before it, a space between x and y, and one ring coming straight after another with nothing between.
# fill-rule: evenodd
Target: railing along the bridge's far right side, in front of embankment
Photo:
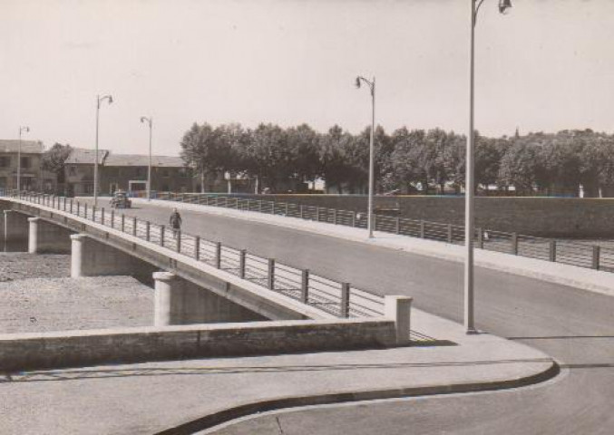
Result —
<instances>
[{"instance_id":1,"label":"railing along the bridge's far right side, in front of embankment","mask_svg":"<svg viewBox=\"0 0 614 435\"><path fill-rule=\"evenodd\" d=\"M161 200L256 211L347 227L366 227L365 212L356 213L336 208L305 206L263 199L227 197L210 193L152 193L154 194L152 198ZM374 218L375 230L377 231L464 245L464 227L462 226L378 214L375 214ZM489 251L614 272L614 249L609 247L600 247L599 245L569 240L505 233L483 228L476 228L474 243L475 247Z\"/></svg>"}]
</instances>

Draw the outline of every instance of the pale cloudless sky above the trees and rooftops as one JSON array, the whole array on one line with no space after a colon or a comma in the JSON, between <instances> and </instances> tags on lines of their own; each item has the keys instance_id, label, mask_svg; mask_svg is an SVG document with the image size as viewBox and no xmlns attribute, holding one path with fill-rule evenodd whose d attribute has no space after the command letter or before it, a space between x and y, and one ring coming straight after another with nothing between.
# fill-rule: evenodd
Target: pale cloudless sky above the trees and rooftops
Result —
<instances>
[{"instance_id":1,"label":"pale cloudless sky above the trees and rooftops","mask_svg":"<svg viewBox=\"0 0 614 435\"><path fill-rule=\"evenodd\" d=\"M614 0L485 0L475 127L614 132ZM465 133L470 0L0 0L0 139L178 155L193 122Z\"/></svg>"}]
</instances>

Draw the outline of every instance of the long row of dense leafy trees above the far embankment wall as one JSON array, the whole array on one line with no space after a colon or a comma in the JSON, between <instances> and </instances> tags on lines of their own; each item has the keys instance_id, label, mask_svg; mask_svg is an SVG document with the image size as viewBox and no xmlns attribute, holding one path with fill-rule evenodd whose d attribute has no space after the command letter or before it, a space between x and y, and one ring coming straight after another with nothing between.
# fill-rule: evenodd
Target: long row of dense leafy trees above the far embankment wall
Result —
<instances>
[{"instance_id":1,"label":"long row of dense leafy trees above the far embankment wall","mask_svg":"<svg viewBox=\"0 0 614 435\"><path fill-rule=\"evenodd\" d=\"M364 192L370 129L357 135L333 126L283 129L260 124L213 127L194 123L180 142L181 156L202 175L230 172L256 178L262 188L288 189L324 179L326 190ZM375 129L376 190L434 193L463 189L466 138L442 129L387 134ZM476 133L475 177L480 189L518 194L599 196L614 186L614 136L585 131L487 138Z\"/></svg>"}]
</instances>

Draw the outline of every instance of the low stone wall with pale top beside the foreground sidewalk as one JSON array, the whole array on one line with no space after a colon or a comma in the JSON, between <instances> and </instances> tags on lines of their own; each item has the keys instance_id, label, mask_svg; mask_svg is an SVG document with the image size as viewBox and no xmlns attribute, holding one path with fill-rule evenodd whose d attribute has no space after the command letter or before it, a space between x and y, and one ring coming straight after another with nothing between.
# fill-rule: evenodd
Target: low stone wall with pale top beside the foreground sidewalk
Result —
<instances>
[{"instance_id":1,"label":"low stone wall with pale top beside the foreground sidewalk","mask_svg":"<svg viewBox=\"0 0 614 435\"><path fill-rule=\"evenodd\" d=\"M0 335L0 371L395 344L392 320L281 321Z\"/></svg>"}]
</instances>

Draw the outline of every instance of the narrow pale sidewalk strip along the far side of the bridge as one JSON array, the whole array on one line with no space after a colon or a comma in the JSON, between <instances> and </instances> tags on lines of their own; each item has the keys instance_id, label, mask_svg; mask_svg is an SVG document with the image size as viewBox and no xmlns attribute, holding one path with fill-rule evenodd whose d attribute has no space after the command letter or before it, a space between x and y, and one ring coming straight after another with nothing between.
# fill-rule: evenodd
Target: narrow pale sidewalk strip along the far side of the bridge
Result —
<instances>
[{"instance_id":1,"label":"narrow pale sidewalk strip along the far side of the bridge","mask_svg":"<svg viewBox=\"0 0 614 435\"><path fill-rule=\"evenodd\" d=\"M141 198L133 198L135 202L147 202ZM380 247L402 250L422 256L434 256L455 262L464 261L464 247L444 242L424 240L417 237L399 236L391 233L375 231L375 237L368 239L366 230L361 228L338 226L324 222L286 218L278 215L268 215L253 211L236 210L232 208L207 207L196 204L185 204L173 201L151 200L151 205L166 208L182 208L201 211L218 216L249 219L255 222L268 223L281 227L314 232L329 237L340 237L358 243L375 244ZM560 285L570 285L601 295L614 295L614 274L585 267L568 266L560 263L536 260L524 256L512 256L500 252L475 249L475 266L495 269L513 275L528 276L542 281Z\"/></svg>"}]
</instances>

